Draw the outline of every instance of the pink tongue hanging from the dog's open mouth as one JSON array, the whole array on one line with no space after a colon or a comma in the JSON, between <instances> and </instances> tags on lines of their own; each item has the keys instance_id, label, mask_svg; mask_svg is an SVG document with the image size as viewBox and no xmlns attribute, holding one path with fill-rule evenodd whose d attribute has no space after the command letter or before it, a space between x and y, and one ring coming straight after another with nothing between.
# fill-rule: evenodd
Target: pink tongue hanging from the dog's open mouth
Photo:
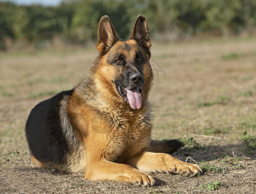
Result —
<instances>
[{"instance_id":1,"label":"pink tongue hanging from the dog's open mouth","mask_svg":"<svg viewBox=\"0 0 256 194\"><path fill-rule=\"evenodd\" d=\"M140 109L142 104L142 99L141 99L141 93L139 92L139 87L136 87L135 89L132 89L132 90L126 89L126 91L127 91L127 98L132 109Z\"/></svg>"}]
</instances>

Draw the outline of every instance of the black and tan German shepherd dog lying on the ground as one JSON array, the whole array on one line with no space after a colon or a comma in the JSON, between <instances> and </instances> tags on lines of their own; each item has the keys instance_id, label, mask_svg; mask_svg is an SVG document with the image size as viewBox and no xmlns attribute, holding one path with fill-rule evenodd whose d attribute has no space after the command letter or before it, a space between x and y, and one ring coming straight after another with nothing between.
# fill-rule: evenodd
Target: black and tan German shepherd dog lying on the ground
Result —
<instances>
[{"instance_id":1,"label":"black and tan German shepherd dog lying on the ground","mask_svg":"<svg viewBox=\"0 0 256 194\"><path fill-rule=\"evenodd\" d=\"M202 172L168 154L178 141L150 140L150 47L144 16L137 17L127 41L119 40L108 16L100 19L99 56L89 78L39 103L29 115L25 132L39 167L145 186L155 183L148 173Z\"/></svg>"}]
</instances>

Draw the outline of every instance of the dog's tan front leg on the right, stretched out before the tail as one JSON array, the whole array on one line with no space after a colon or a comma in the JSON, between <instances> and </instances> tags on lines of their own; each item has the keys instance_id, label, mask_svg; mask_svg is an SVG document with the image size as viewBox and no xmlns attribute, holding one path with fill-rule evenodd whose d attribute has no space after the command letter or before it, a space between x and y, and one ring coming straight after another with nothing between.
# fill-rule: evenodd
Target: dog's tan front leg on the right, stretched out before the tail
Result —
<instances>
[{"instance_id":1,"label":"dog's tan front leg on the right, stretched out before the tail","mask_svg":"<svg viewBox=\"0 0 256 194\"><path fill-rule=\"evenodd\" d=\"M128 160L133 167L145 172L161 172L161 173L180 173L185 177L193 177L202 172L202 169L196 164L189 164L174 158L165 153L144 152Z\"/></svg>"}]
</instances>

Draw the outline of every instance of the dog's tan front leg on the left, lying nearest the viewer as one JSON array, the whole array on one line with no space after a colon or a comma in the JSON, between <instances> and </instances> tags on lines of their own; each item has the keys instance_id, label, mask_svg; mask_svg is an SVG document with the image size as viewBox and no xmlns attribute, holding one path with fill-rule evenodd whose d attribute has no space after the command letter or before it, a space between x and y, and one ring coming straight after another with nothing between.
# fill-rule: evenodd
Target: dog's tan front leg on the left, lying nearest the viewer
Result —
<instances>
[{"instance_id":1,"label":"dog's tan front leg on the left, lying nearest the viewer","mask_svg":"<svg viewBox=\"0 0 256 194\"><path fill-rule=\"evenodd\" d=\"M115 180L153 186L154 178L127 164L100 160L87 164L85 177L89 180Z\"/></svg>"}]
</instances>

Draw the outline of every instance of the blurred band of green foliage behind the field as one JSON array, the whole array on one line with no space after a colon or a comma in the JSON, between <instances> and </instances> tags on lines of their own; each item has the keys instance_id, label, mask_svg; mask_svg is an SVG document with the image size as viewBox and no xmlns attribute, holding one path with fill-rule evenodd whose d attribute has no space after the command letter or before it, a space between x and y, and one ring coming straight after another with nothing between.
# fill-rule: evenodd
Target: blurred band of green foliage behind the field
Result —
<instances>
[{"instance_id":1,"label":"blurred band of green foliage behind the field","mask_svg":"<svg viewBox=\"0 0 256 194\"><path fill-rule=\"evenodd\" d=\"M40 45L59 37L65 43L95 41L101 16L108 15L121 39L130 36L138 14L150 36L170 41L200 33L229 36L256 26L256 1L250 0L66 0L59 6L17 6L0 2L0 49L6 40Z\"/></svg>"}]
</instances>

